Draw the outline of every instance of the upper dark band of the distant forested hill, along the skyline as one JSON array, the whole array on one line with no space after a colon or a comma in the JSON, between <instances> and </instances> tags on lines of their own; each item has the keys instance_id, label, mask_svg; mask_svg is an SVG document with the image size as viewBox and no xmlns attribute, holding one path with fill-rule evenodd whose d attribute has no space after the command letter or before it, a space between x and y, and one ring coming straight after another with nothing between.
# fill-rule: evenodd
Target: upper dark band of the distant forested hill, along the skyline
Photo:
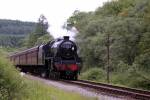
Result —
<instances>
[{"instance_id":1,"label":"upper dark band of the distant forested hill, along the skyline","mask_svg":"<svg viewBox=\"0 0 150 100\"><path fill-rule=\"evenodd\" d=\"M35 29L36 23L0 19L0 34L26 35Z\"/></svg>"}]
</instances>

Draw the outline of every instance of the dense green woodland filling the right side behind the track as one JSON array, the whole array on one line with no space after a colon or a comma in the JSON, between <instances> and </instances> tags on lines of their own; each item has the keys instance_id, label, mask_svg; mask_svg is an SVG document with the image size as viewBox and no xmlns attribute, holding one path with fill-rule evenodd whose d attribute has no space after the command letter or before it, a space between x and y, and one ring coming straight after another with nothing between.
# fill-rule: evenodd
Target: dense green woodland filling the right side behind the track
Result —
<instances>
[{"instance_id":1,"label":"dense green woodland filling the right side behind the track","mask_svg":"<svg viewBox=\"0 0 150 100\"><path fill-rule=\"evenodd\" d=\"M110 83L150 89L150 0L113 0L67 23L78 30L82 78L107 82L109 60Z\"/></svg>"}]
</instances>

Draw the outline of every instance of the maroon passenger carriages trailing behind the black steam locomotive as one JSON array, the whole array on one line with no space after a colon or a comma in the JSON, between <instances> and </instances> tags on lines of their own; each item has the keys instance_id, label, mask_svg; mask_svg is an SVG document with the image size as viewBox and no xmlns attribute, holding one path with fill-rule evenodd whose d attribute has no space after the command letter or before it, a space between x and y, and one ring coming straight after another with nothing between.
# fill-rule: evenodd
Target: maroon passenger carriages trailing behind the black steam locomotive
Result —
<instances>
[{"instance_id":1,"label":"maroon passenger carriages trailing behind the black steam locomotive","mask_svg":"<svg viewBox=\"0 0 150 100\"><path fill-rule=\"evenodd\" d=\"M11 55L10 60L16 67L20 67L22 71L26 72L34 67L38 68L43 65L39 55L39 46L36 46Z\"/></svg>"}]
</instances>

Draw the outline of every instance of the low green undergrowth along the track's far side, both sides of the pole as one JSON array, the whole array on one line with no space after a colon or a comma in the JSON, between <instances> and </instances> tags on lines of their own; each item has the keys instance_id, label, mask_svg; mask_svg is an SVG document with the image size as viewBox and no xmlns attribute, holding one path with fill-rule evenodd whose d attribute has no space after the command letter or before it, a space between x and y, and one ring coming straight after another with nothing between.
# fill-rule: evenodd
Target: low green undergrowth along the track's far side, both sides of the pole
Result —
<instances>
[{"instance_id":1,"label":"low green undergrowth along the track's far side, both sides of the pole","mask_svg":"<svg viewBox=\"0 0 150 100\"><path fill-rule=\"evenodd\" d=\"M128 70L111 72L110 84L150 90L149 77L148 73L137 71L130 66ZM107 83L106 71L101 68L91 68L81 73L80 79Z\"/></svg>"}]
</instances>

